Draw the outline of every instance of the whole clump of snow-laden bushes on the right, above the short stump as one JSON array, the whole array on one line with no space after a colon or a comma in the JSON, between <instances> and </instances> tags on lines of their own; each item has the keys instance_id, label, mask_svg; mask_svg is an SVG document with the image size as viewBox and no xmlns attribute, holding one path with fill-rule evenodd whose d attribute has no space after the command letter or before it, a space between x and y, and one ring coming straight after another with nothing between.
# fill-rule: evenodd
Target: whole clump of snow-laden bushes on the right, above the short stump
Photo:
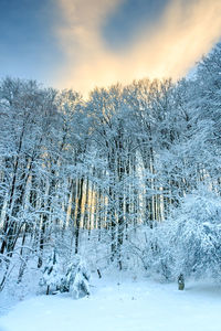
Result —
<instances>
[{"instance_id":1,"label":"whole clump of snow-laden bushes on the right, above the short stump","mask_svg":"<svg viewBox=\"0 0 221 331\"><path fill-rule=\"evenodd\" d=\"M130 249L149 276L221 279L221 197L203 185L187 195L168 220L143 227Z\"/></svg>"}]
</instances>

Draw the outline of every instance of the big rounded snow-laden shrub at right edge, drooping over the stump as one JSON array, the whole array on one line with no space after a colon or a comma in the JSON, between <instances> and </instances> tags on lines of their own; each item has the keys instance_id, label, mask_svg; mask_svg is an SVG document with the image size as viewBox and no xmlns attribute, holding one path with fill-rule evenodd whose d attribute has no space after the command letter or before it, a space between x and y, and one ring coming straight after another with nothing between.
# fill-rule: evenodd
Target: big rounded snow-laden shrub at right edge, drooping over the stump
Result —
<instances>
[{"instance_id":1,"label":"big rounded snow-laden shrub at right edge, drooping over the stump","mask_svg":"<svg viewBox=\"0 0 221 331\"><path fill-rule=\"evenodd\" d=\"M186 196L166 221L175 276L221 278L221 199L204 188Z\"/></svg>"}]
</instances>

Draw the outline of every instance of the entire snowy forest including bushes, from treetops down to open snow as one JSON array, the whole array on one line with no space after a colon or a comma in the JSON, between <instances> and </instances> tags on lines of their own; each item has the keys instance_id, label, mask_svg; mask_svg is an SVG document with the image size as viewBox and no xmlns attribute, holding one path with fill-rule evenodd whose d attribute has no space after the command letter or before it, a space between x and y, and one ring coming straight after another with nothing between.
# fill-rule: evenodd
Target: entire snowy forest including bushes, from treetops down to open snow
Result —
<instances>
[{"instance_id":1,"label":"entire snowy forest including bushes, from treetops down to open snow","mask_svg":"<svg viewBox=\"0 0 221 331\"><path fill-rule=\"evenodd\" d=\"M76 258L221 280L221 43L178 82L87 98L6 77L0 124L0 291L50 264L61 288Z\"/></svg>"}]
</instances>

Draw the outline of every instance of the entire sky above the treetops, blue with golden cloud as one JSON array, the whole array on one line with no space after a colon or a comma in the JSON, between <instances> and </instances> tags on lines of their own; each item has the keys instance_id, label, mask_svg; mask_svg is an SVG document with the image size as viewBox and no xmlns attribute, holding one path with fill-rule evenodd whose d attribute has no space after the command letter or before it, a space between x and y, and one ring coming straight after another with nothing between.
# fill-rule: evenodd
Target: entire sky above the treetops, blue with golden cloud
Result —
<instances>
[{"instance_id":1,"label":"entire sky above the treetops, blue with golden cloud","mask_svg":"<svg viewBox=\"0 0 221 331\"><path fill-rule=\"evenodd\" d=\"M220 0L0 0L0 77L83 94L180 78L221 39Z\"/></svg>"}]
</instances>

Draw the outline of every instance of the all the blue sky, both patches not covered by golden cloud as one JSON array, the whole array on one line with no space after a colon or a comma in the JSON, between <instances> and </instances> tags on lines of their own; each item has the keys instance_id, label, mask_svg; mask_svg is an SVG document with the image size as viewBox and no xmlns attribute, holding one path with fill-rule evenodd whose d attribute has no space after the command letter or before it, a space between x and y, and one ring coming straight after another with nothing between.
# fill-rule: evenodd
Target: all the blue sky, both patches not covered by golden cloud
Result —
<instances>
[{"instance_id":1,"label":"all the blue sky, both patches not covered by golden cloud","mask_svg":"<svg viewBox=\"0 0 221 331\"><path fill-rule=\"evenodd\" d=\"M149 25L154 23L166 2L129 0L119 6L103 26L107 47L124 49L138 25L147 20ZM0 76L53 84L59 67L65 65L65 55L54 34L55 22L60 20L55 0L0 0Z\"/></svg>"}]
</instances>

